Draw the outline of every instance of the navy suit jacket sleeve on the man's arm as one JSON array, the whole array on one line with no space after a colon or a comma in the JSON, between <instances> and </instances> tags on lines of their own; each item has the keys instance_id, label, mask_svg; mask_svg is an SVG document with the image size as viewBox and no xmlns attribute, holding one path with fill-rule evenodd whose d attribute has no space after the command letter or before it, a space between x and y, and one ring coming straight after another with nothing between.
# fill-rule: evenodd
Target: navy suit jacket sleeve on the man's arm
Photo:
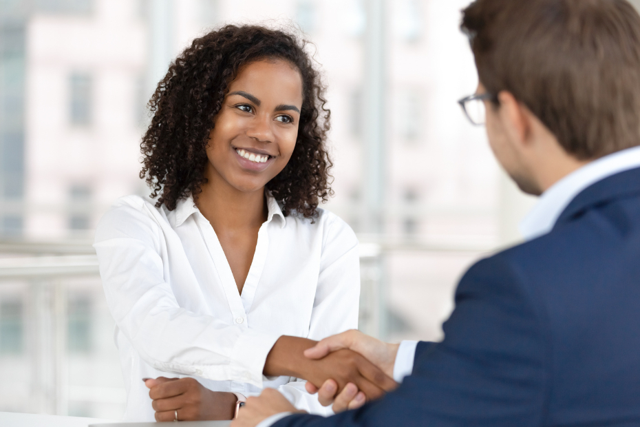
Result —
<instances>
[{"instance_id":1,"label":"navy suit jacket sleeve on the man's arm","mask_svg":"<svg viewBox=\"0 0 640 427\"><path fill-rule=\"evenodd\" d=\"M383 399L299 426L540 426L546 404L546 315L504 256L469 269L456 291L445 340L416 348L412 375Z\"/></svg>"}]
</instances>

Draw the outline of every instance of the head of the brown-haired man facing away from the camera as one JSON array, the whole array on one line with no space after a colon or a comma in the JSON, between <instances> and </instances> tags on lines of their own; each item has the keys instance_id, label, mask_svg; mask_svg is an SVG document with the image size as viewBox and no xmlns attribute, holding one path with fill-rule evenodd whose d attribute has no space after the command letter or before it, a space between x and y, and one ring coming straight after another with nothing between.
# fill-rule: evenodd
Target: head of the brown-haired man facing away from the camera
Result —
<instances>
[{"instance_id":1,"label":"head of the brown-haired man facing away from the camera","mask_svg":"<svg viewBox=\"0 0 640 427\"><path fill-rule=\"evenodd\" d=\"M628 1L477 0L463 13L478 90L495 95L491 147L524 191L640 145L640 16Z\"/></svg>"}]
</instances>

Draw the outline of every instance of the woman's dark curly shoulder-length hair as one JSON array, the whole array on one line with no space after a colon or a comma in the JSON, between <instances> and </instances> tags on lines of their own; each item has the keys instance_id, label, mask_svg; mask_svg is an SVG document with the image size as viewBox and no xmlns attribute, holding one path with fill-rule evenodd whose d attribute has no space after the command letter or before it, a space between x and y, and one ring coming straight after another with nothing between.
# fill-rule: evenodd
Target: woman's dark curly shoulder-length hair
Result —
<instances>
[{"instance_id":1,"label":"woman's dark curly shoulder-length hair","mask_svg":"<svg viewBox=\"0 0 640 427\"><path fill-rule=\"evenodd\" d=\"M181 198L198 200L206 183L206 147L215 116L228 86L242 66L263 59L288 61L299 70L303 103L293 154L266 188L283 205L284 215L297 211L305 218L317 216L326 202L332 167L326 149L330 110L326 87L305 51L308 42L281 30L257 25L226 25L195 39L169 66L148 107L151 124L142 137L143 167L140 178L151 187L156 207L170 211Z\"/></svg>"}]
</instances>

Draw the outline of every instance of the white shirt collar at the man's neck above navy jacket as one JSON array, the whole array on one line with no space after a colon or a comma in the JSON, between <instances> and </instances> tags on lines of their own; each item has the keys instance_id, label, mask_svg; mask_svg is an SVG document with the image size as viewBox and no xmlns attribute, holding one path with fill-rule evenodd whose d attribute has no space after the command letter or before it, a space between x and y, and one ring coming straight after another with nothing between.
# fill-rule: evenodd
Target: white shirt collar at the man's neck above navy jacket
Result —
<instances>
[{"instance_id":1,"label":"white shirt collar at the man's neck above navy jacket","mask_svg":"<svg viewBox=\"0 0 640 427\"><path fill-rule=\"evenodd\" d=\"M594 160L568 174L540 196L535 207L520 222L520 233L526 240L543 236L553 229L562 211L582 190L637 167L640 167L640 147L633 147Z\"/></svg>"}]
</instances>

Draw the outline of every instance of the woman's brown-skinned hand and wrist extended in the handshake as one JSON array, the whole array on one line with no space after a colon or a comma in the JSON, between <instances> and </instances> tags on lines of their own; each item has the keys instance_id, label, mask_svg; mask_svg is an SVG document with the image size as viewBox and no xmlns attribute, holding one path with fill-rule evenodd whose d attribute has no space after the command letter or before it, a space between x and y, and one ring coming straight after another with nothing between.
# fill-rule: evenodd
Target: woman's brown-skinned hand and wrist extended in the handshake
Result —
<instances>
[{"instance_id":1,"label":"woman's brown-skinned hand and wrist extended in the handshake","mask_svg":"<svg viewBox=\"0 0 640 427\"><path fill-rule=\"evenodd\" d=\"M264 374L303 378L316 387L327 379L334 379L338 391L353 383L367 399L377 399L396 388L397 384L391 377L345 346L331 353L326 351L317 360L305 357L303 351L314 344L317 342L305 338L280 337L267 356Z\"/></svg>"}]
</instances>

